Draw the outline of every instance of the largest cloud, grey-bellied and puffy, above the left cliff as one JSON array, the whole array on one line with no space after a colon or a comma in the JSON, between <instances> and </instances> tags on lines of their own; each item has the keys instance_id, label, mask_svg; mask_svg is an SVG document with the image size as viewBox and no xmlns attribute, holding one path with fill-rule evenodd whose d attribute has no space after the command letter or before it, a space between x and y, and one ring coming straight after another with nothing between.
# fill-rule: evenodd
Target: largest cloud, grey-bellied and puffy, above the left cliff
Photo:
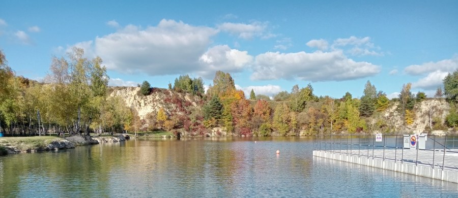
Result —
<instances>
[{"instance_id":1,"label":"largest cloud, grey-bellied and puffy, above the left cliff","mask_svg":"<svg viewBox=\"0 0 458 198\"><path fill-rule=\"evenodd\" d=\"M218 30L211 27L163 19L157 26L142 29L127 25L115 33L75 46L99 55L108 70L151 76L187 74L207 71L209 64L202 64L199 58L206 53L211 38L217 33ZM228 54L239 55L231 52ZM232 57L236 59L234 63L240 63L236 57Z\"/></svg>"}]
</instances>

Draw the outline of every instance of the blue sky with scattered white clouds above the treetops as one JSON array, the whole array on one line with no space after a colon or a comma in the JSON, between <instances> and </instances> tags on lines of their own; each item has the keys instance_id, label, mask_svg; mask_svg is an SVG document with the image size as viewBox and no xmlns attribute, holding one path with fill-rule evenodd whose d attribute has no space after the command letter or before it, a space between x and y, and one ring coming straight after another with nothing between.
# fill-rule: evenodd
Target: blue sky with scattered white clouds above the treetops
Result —
<instances>
[{"instance_id":1,"label":"blue sky with scattered white clouds above the treetops","mask_svg":"<svg viewBox=\"0 0 458 198\"><path fill-rule=\"evenodd\" d=\"M110 85L231 73L249 95L310 83L317 95L433 96L458 68L458 1L4 1L0 48L42 80L73 46L100 56Z\"/></svg>"}]
</instances>

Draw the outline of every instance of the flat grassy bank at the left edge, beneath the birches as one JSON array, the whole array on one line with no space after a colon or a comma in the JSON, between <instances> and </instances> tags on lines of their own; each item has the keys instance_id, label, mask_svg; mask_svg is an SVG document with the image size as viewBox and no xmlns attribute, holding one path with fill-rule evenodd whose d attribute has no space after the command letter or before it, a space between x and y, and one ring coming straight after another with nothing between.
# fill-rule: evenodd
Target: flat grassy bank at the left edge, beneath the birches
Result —
<instances>
[{"instance_id":1,"label":"flat grassy bank at the left edge, beneath the birches","mask_svg":"<svg viewBox=\"0 0 458 198\"><path fill-rule=\"evenodd\" d=\"M0 138L0 152L6 151L6 148L15 148L20 151L44 150L52 141L63 140L58 137L34 136L34 137L3 137Z\"/></svg>"}]
</instances>

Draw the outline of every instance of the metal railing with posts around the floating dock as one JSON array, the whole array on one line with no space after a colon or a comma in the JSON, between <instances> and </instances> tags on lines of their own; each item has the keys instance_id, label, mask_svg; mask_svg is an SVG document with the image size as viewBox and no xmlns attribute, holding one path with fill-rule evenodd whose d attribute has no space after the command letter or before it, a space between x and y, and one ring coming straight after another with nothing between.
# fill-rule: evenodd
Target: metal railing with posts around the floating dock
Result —
<instances>
[{"instance_id":1,"label":"metal railing with posts around the floating dock","mask_svg":"<svg viewBox=\"0 0 458 198\"><path fill-rule=\"evenodd\" d=\"M427 135L424 149L405 148L404 135L317 135L315 150L378 158L396 163L415 163L433 169L458 171L458 136ZM418 144L417 144L418 145Z\"/></svg>"}]
</instances>

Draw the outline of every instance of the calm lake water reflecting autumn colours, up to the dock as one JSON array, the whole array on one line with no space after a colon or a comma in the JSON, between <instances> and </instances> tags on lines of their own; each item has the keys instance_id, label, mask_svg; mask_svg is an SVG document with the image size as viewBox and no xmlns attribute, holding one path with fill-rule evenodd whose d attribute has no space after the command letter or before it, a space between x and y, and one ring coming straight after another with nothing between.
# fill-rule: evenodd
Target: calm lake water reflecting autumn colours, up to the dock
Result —
<instances>
[{"instance_id":1,"label":"calm lake water reflecting autumn colours, up to the dock","mask_svg":"<svg viewBox=\"0 0 458 198\"><path fill-rule=\"evenodd\" d=\"M310 138L137 139L9 155L0 197L458 197L458 184L313 157L313 147Z\"/></svg>"}]
</instances>

